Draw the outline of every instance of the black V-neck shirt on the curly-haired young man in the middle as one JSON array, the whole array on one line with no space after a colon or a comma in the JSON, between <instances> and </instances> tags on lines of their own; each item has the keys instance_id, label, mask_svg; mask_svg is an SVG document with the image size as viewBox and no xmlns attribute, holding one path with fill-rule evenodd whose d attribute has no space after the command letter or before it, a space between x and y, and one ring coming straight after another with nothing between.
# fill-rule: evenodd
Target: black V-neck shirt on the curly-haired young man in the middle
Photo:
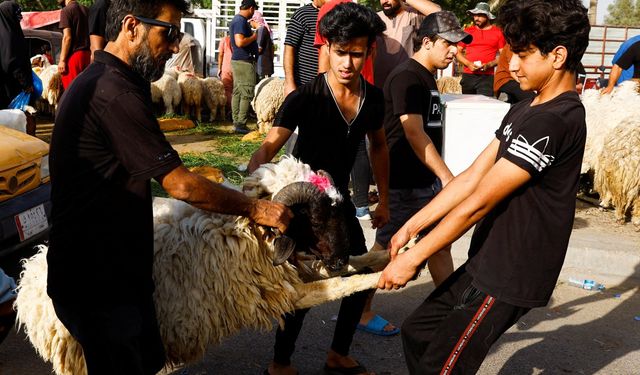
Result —
<instances>
[{"instance_id":1,"label":"black V-neck shirt on the curly-haired young man in the middle","mask_svg":"<svg viewBox=\"0 0 640 375\"><path fill-rule=\"evenodd\" d=\"M362 76L360 82L364 82L364 96L351 124L342 117L324 74L289 94L274 122L291 131L298 127L293 156L313 170L329 172L345 197L359 143L368 131L382 127L382 91Z\"/></svg>"}]
</instances>

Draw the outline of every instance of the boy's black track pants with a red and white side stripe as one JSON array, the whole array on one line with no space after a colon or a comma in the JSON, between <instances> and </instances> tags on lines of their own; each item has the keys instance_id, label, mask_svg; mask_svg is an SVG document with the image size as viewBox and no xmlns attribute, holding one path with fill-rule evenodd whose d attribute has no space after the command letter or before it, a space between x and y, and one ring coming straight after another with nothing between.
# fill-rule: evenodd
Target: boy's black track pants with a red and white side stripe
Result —
<instances>
[{"instance_id":1,"label":"boy's black track pants with a red and white side stripe","mask_svg":"<svg viewBox=\"0 0 640 375\"><path fill-rule=\"evenodd\" d=\"M458 268L402 324L409 373L475 374L491 345L530 309L496 300Z\"/></svg>"}]
</instances>

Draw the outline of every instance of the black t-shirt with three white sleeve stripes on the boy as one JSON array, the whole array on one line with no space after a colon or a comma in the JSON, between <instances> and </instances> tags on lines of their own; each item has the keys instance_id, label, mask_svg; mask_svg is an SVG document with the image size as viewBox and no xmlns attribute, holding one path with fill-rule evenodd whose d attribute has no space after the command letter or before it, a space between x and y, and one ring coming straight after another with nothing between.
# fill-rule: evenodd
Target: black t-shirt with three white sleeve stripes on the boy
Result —
<instances>
[{"instance_id":1,"label":"black t-shirt with three white sleeve stripes on the boy","mask_svg":"<svg viewBox=\"0 0 640 375\"><path fill-rule=\"evenodd\" d=\"M503 302L548 303L564 262L586 138L585 110L566 92L514 105L496 131L497 159L531 175L476 225L467 270L474 286Z\"/></svg>"}]
</instances>

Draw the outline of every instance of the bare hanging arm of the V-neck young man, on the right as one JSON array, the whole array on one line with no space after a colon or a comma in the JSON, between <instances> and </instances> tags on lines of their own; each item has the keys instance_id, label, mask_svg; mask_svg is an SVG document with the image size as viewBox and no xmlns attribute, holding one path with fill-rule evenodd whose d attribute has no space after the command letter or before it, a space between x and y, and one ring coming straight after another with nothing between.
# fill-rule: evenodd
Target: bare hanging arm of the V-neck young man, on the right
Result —
<instances>
[{"instance_id":1,"label":"bare hanging arm of the V-neck young man, on the right","mask_svg":"<svg viewBox=\"0 0 640 375\"><path fill-rule=\"evenodd\" d=\"M369 138L369 160L371 160L373 178L380 196L371 226L381 228L389 222L389 150L384 128L370 131L367 137Z\"/></svg>"}]
</instances>

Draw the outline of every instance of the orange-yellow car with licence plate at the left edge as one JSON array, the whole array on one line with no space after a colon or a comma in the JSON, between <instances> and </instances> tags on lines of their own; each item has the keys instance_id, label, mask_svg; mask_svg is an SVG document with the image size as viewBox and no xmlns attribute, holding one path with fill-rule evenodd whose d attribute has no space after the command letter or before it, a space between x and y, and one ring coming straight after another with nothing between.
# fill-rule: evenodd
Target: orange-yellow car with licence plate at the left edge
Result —
<instances>
[{"instance_id":1,"label":"orange-yellow car with licence plate at the left edge","mask_svg":"<svg viewBox=\"0 0 640 375\"><path fill-rule=\"evenodd\" d=\"M48 238L50 195L49 145L0 124L0 258Z\"/></svg>"}]
</instances>

